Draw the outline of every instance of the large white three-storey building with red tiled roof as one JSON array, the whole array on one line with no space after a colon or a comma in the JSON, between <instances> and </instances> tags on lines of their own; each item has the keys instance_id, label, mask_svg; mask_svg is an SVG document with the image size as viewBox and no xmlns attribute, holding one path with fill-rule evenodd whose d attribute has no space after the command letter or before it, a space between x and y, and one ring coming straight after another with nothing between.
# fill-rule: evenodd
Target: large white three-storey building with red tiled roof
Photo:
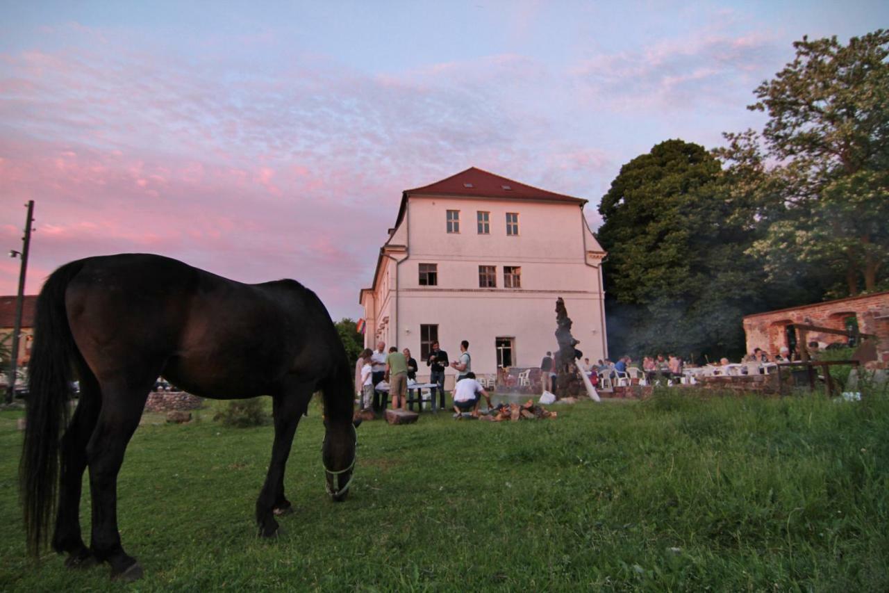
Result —
<instances>
[{"instance_id":1,"label":"large white three-storey building with red tiled roof","mask_svg":"<svg viewBox=\"0 0 889 593\"><path fill-rule=\"evenodd\" d=\"M577 347L605 358L605 252L586 202L475 167L404 191L372 287L359 296L364 345L410 348L420 379L436 339L452 361L469 340L476 374L536 367L558 348L562 296Z\"/></svg>"}]
</instances>

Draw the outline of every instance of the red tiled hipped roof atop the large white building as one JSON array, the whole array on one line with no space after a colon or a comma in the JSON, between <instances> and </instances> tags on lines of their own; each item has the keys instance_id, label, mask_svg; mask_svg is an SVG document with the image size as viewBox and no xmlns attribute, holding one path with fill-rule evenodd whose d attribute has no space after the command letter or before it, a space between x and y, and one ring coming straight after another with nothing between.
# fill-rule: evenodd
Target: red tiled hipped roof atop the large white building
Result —
<instances>
[{"instance_id":1,"label":"red tiled hipped roof atop the large white building","mask_svg":"<svg viewBox=\"0 0 889 593\"><path fill-rule=\"evenodd\" d=\"M509 189L506 189L509 188ZM476 167L469 167L457 175L451 175L436 183L430 183L412 190L404 190L411 194L434 194L472 196L474 198L524 198L524 199L551 199L582 204L587 200L566 196L554 191L541 190L540 188L519 183L500 175L488 173Z\"/></svg>"}]
</instances>

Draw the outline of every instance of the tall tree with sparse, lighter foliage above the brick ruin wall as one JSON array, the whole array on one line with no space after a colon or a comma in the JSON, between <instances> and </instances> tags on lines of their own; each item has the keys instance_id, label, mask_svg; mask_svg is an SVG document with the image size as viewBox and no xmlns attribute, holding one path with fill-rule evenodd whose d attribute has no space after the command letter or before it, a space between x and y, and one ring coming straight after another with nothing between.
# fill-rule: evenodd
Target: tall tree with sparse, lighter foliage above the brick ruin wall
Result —
<instances>
[{"instance_id":1,"label":"tall tree with sparse, lighter foliage above the brick ruin wall","mask_svg":"<svg viewBox=\"0 0 889 593\"><path fill-rule=\"evenodd\" d=\"M762 134L725 134L717 154L758 170L763 234L750 254L771 280L803 271L820 296L885 284L889 258L889 32L842 45L794 43L797 55L755 91ZM771 163L771 165L766 165Z\"/></svg>"}]
</instances>

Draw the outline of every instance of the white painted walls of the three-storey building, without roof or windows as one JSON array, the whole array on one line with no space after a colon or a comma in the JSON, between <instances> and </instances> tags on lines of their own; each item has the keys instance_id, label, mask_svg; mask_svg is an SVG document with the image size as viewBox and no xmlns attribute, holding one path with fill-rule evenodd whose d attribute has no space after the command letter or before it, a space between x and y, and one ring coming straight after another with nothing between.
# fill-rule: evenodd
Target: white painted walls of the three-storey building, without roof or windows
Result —
<instances>
[{"instance_id":1,"label":"white painted walls of the three-storey building, without roof or windows","mask_svg":"<svg viewBox=\"0 0 889 593\"><path fill-rule=\"evenodd\" d=\"M446 210L461 211L460 233L446 232ZM478 210L491 213L488 235L477 232ZM506 234L507 212L519 214L518 236ZM516 366L536 366L544 353L557 349L556 299L562 296L578 347L590 359L605 357L602 249L579 205L411 196L388 241L404 243L406 255L397 255L404 257L397 291L395 262L383 256L373 297L364 293L366 345L372 347L379 334L387 347L408 347L419 361L420 324L437 324L452 360L461 340L469 340L477 373L496 372L497 337L515 338ZM420 286L419 264L437 264L436 287ZM478 287L479 265L496 266L497 288ZM504 265L521 266L521 288L503 288ZM384 317L389 322L380 330ZM420 367L422 378L426 367L422 362Z\"/></svg>"}]
</instances>

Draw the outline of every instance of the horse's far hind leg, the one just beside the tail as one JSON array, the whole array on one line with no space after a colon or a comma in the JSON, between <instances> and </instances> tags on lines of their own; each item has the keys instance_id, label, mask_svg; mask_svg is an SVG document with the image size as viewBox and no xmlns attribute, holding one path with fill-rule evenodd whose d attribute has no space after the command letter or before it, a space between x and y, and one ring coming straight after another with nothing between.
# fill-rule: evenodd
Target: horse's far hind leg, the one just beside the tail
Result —
<instances>
[{"instance_id":1,"label":"horse's far hind leg, the one just beside the tail","mask_svg":"<svg viewBox=\"0 0 889 593\"><path fill-rule=\"evenodd\" d=\"M68 553L65 565L92 565L94 558L80 532L80 494L86 468L86 443L96 426L100 409L100 390L92 372L84 368L80 375L80 400L61 441L61 477L59 513L56 516L52 548Z\"/></svg>"}]
</instances>

